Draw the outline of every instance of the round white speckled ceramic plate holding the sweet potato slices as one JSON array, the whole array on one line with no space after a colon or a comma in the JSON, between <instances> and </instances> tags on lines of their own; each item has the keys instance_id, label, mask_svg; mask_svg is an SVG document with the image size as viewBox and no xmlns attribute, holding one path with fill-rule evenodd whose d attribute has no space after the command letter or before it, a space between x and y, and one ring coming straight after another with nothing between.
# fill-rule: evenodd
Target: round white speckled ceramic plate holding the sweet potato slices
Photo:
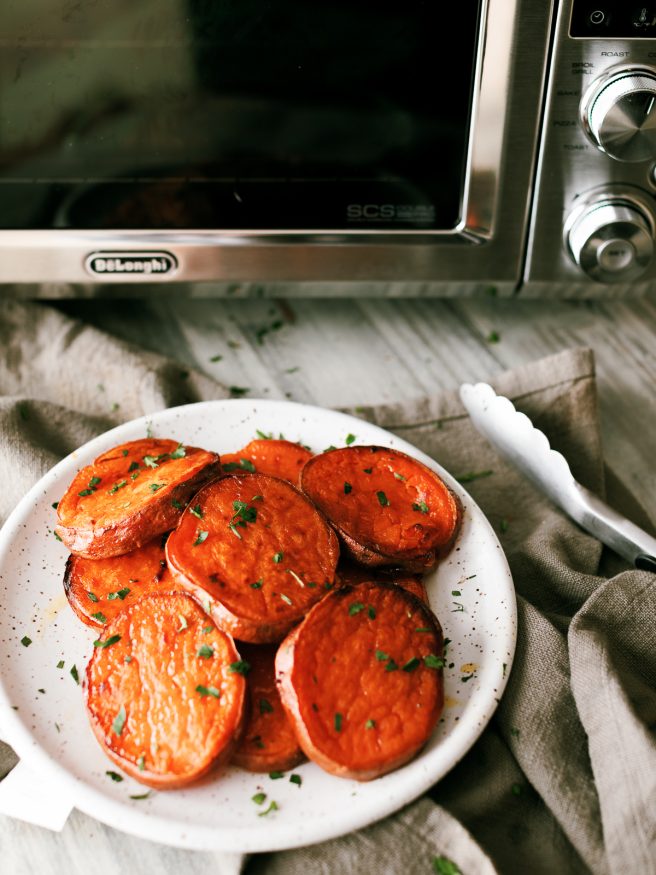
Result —
<instances>
[{"instance_id":1,"label":"round white speckled ceramic plate holding the sweet potato slices","mask_svg":"<svg viewBox=\"0 0 656 875\"><path fill-rule=\"evenodd\" d=\"M335 778L313 763L295 772L302 786L237 768L185 790L151 792L112 764L89 727L82 675L96 637L66 603L67 551L53 537L52 503L76 471L110 447L153 434L218 452L238 450L256 429L283 432L320 452L357 443L394 447L436 470L460 496L464 523L449 557L426 579L448 645L446 707L432 738L411 763L369 783ZM453 595L453 592L460 593ZM472 499L432 459L358 419L300 404L209 401L121 425L56 465L20 502L0 532L0 734L77 808L111 826L181 847L265 851L308 845L358 829L425 792L469 750L499 702L516 636L515 594L499 542ZM32 643L25 647L21 639ZM59 667L63 661L62 668ZM259 817L263 791L279 810Z\"/></svg>"}]
</instances>

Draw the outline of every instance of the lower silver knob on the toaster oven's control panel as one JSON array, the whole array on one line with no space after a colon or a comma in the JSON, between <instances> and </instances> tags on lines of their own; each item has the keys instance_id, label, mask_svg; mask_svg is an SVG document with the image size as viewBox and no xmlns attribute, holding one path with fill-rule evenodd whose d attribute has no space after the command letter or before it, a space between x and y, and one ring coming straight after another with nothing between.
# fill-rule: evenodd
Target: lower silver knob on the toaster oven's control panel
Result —
<instances>
[{"instance_id":1,"label":"lower silver knob on the toaster oven's control panel","mask_svg":"<svg viewBox=\"0 0 656 875\"><path fill-rule=\"evenodd\" d=\"M654 251L652 225L636 204L605 199L574 213L566 229L571 258L600 283L637 279Z\"/></svg>"}]
</instances>

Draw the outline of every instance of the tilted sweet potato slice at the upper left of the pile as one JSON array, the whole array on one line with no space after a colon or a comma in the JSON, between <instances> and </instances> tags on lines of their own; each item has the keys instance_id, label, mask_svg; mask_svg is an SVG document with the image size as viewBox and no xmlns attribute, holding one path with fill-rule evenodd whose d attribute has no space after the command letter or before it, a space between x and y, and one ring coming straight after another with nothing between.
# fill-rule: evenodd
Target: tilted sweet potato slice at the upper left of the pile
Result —
<instances>
[{"instance_id":1,"label":"tilted sweet potato slice at the upper left of the pile","mask_svg":"<svg viewBox=\"0 0 656 875\"><path fill-rule=\"evenodd\" d=\"M77 473L55 531L88 559L129 553L175 528L189 499L220 474L216 453L158 438L130 441Z\"/></svg>"}]
</instances>

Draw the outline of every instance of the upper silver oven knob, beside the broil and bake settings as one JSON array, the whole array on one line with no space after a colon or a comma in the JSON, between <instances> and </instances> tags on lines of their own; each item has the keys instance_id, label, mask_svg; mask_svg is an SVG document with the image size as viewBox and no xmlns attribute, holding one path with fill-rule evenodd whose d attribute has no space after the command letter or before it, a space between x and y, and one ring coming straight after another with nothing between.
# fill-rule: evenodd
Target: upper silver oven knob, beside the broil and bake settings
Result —
<instances>
[{"instance_id":1,"label":"upper silver oven knob, beside the broil and bake settings","mask_svg":"<svg viewBox=\"0 0 656 875\"><path fill-rule=\"evenodd\" d=\"M588 136L617 161L656 158L656 72L609 73L586 93L581 120Z\"/></svg>"}]
</instances>

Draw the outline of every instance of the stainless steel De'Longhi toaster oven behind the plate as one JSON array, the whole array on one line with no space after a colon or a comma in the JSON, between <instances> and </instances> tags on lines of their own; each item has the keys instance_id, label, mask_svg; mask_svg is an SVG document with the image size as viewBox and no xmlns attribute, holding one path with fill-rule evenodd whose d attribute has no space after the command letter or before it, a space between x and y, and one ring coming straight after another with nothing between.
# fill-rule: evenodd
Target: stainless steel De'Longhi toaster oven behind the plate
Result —
<instances>
[{"instance_id":1,"label":"stainless steel De'Longhi toaster oven behind the plate","mask_svg":"<svg viewBox=\"0 0 656 875\"><path fill-rule=\"evenodd\" d=\"M643 288L655 37L622 0L3 0L0 282Z\"/></svg>"}]
</instances>

